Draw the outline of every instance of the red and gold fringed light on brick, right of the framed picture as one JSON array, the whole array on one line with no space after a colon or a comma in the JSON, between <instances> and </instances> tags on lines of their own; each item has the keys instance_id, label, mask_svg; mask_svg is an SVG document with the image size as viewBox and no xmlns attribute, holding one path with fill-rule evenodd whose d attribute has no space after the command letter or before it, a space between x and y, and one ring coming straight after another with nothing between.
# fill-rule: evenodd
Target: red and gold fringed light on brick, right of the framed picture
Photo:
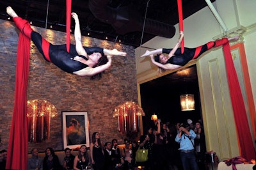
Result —
<instances>
[{"instance_id":1,"label":"red and gold fringed light on brick, right of the framed picture","mask_svg":"<svg viewBox=\"0 0 256 170\"><path fill-rule=\"evenodd\" d=\"M140 119L145 116L143 109L135 102L125 102L115 107L113 117L118 118L118 130L126 135L140 132Z\"/></svg>"}]
</instances>

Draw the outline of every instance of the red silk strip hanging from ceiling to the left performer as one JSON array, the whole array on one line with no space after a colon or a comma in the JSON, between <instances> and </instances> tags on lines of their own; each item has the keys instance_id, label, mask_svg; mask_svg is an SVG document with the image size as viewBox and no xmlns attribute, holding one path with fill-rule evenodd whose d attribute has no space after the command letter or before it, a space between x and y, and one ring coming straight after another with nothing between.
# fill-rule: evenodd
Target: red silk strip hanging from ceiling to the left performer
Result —
<instances>
[{"instance_id":1,"label":"red silk strip hanging from ceiling to the left performer","mask_svg":"<svg viewBox=\"0 0 256 170\"><path fill-rule=\"evenodd\" d=\"M67 40L66 40L66 45L67 45L67 52L70 50L70 22L71 22L71 6L72 6L72 0L67 0L66 1L66 15L67 15L67 20L66 20L66 33L67 33Z\"/></svg>"}]
</instances>

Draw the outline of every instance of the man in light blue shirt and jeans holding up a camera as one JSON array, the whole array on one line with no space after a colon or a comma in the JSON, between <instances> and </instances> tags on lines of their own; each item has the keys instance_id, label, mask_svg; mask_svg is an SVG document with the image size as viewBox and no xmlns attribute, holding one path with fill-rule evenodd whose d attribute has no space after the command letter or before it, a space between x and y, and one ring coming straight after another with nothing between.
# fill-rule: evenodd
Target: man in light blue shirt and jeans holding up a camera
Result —
<instances>
[{"instance_id":1,"label":"man in light blue shirt and jeans holding up a camera","mask_svg":"<svg viewBox=\"0 0 256 170\"><path fill-rule=\"evenodd\" d=\"M194 139L196 134L189 128L189 124L180 124L179 134L175 141L180 144L180 158L184 170L198 170L194 148Z\"/></svg>"}]
</instances>

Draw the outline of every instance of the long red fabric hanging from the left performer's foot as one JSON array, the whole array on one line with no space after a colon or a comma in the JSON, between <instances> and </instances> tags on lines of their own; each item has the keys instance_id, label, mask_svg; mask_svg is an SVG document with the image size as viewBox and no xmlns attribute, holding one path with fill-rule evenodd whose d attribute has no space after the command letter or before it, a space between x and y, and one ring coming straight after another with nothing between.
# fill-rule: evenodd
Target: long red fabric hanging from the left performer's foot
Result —
<instances>
[{"instance_id":1,"label":"long red fabric hanging from the left performer's foot","mask_svg":"<svg viewBox=\"0 0 256 170\"><path fill-rule=\"evenodd\" d=\"M28 165L27 85L30 40L20 33L17 49L15 102L8 144L6 169L25 170Z\"/></svg>"}]
</instances>

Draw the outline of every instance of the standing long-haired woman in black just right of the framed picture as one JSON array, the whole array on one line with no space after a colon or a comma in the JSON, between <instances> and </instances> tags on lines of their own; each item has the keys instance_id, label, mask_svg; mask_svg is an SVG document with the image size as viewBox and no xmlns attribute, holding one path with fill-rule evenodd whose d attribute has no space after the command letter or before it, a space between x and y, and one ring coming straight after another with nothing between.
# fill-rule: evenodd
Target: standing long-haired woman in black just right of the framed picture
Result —
<instances>
[{"instance_id":1,"label":"standing long-haired woman in black just right of the framed picture","mask_svg":"<svg viewBox=\"0 0 256 170\"><path fill-rule=\"evenodd\" d=\"M104 146L100 142L99 132L92 134L92 143L90 144L90 156L94 170L104 169Z\"/></svg>"}]
</instances>

